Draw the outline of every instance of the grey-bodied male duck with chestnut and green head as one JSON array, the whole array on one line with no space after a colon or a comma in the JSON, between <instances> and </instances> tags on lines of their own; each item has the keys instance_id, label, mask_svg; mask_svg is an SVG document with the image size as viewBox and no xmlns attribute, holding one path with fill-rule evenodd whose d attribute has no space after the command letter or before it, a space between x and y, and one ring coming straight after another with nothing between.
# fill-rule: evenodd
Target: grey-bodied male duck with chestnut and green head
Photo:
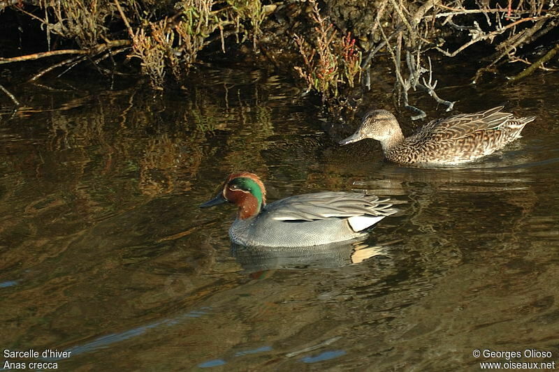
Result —
<instances>
[{"instance_id":1,"label":"grey-bodied male duck with chestnut and green head","mask_svg":"<svg viewBox=\"0 0 559 372\"><path fill-rule=\"evenodd\" d=\"M303 247L354 239L397 211L388 198L332 191L266 204L264 184L249 172L231 174L219 194L200 207L224 202L238 207L229 237L242 246Z\"/></svg>"}]
</instances>

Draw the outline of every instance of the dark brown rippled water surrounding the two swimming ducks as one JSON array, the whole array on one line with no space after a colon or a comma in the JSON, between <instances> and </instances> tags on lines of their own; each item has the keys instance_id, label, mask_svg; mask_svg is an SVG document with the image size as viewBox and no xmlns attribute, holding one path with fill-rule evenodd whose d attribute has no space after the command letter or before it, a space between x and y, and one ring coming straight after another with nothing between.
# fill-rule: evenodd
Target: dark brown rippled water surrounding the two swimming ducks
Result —
<instances>
[{"instance_id":1,"label":"dark brown rippled water surrounding the two swimming ducks","mask_svg":"<svg viewBox=\"0 0 559 372\"><path fill-rule=\"evenodd\" d=\"M507 358L474 350L535 349L551 357L512 361L559 368L559 77L446 86L460 112L537 120L483 161L421 169L372 141L338 147L356 121L331 126L260 72L205 71L164 96L24 86L13 116L0 95L0 367L479 371ZM368 99L392 110L386 91ZM402 213L352 245L231 249L233 209L197 206L233 170L269 200L369 190ZM4 354L29 349L71 355Z\"/></svg>"}]
</instances>

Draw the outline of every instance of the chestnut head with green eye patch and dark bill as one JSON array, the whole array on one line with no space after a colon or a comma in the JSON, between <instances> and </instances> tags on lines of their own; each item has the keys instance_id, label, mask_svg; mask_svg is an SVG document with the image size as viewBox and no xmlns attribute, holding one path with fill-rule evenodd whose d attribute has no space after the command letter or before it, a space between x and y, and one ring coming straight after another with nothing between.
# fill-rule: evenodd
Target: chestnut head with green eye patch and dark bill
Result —
<instances>
[{"instance_id":1,"label":"chestnut head with green eye patch and dark bill","mask_svg":"<svg viewBox=\"0 0 559 372\"><path fill-rule=\"evenodd\" d=\"M266 205L266 188L256 174L233 173L227 177L217 196L201 204L200 208L209 208L224 202L239 207L238 218L250 218L259 214Z\"/></svg>"}]
</instances>

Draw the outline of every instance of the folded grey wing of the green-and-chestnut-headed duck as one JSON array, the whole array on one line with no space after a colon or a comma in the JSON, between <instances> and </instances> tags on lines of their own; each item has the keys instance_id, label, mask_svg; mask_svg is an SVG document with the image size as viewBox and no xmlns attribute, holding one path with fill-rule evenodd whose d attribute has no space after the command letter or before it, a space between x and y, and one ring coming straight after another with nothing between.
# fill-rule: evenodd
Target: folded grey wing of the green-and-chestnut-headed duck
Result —
<instances>
[{"instance_id":1,"label":"folded grey wing of the green-and-chestnut-headed duck","mask_svg":"<svg viewBox=\"0 0 559 372\"><path fill-rule=\"evenodd\" d=\"M274 220L316 221L332 217L390 216L398 211L391 207L389 198L329 191L277 200L264 210Z\"/></svg>"}]
</instances>

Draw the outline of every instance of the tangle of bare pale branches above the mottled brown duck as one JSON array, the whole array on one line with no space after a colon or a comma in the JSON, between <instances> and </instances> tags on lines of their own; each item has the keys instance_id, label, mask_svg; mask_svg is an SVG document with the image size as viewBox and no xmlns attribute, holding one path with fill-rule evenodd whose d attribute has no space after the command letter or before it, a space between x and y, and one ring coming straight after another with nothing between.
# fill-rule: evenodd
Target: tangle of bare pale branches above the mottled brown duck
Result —
<instances>
[{"instance_id":1,"label":"tangle of bare pale branches above the mottled brown duck","mask_svg":"<svg viewBox=\"0 0 559 372\"><path fill-rule=\"evenodd\" d=\"M521 1L516 8L512 8L510 1L506 8L488 8L478 3L479 8L466 9L463 4L463 0L454 0L451 6L443 5L440 0L426 1L412 11L412 6L402 1L383 0L378 6L369 38L375 38L377 32L380 36L376 43L370 44L368 52L365 53L367 57L361 65L363 85L370 88L369 70L372 61L380 51L386 50L394 67L398 101L401 100L403 107L414 112L412 119L424 117L425 112L410 105L410 89L425 91L437 103L447 106L449 111L453 109L454 102L437 95L433 64L426 52L437 51L443 57L456 57L476 43L493 43L498 40L498 43L495 43L495 54L484 68L477 71L475 81L484 71L500 66L504 61L525 61L516 56L518 50L556 29L559 24L559 13L552 10L553 5L544 0ZM389 14L392 14L392 24L382 25ZM479 23L483 20L476 18L479 16L485 17L483 26ZM456 33L467 33L470 40L450 52L444 47L441 34ZM550 53L554 54L553 51L556 51L556 48ZM551 57L542 59L542 64L549 59ZM537 66L530 66L526 72L529 73ZM428 75L424 76L426 73ZM516 80L516 77L512 80Z\"/></svg>"}]
</instances>

